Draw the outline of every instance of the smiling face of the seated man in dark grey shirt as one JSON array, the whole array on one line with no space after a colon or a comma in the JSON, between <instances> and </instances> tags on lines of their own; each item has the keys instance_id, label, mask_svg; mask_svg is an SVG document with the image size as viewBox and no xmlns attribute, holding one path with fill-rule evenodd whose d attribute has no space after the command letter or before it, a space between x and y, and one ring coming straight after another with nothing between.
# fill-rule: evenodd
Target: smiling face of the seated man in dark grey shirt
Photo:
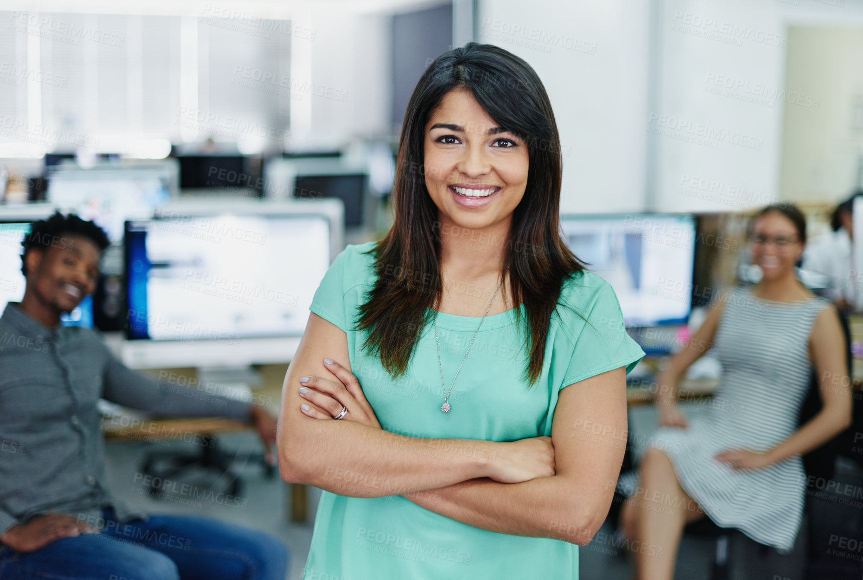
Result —
<instances>
[{"instance_id":1,"label":"smiling face of the seated man in dark grey shirt","mask_svg":"<svg viewBox=\"0 0 863 580\"><path fill-rule=\"evenodd\" d=\"M98 246L85 236L59 236L47 248L27 253L27 288L47 309L70 312L96 289Z\"/></svg>"}]
</instances>

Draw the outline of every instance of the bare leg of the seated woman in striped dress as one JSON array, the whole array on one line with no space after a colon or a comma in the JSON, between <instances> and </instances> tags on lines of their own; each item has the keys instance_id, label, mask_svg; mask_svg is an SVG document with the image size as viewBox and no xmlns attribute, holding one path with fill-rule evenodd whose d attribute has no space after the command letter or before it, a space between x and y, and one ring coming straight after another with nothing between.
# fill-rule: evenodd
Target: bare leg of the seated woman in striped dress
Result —
<instances>
[{"instance_id":1,"label":"bare leg of the seated woman in striped dress","mask_svg":"<svg viewBox=\"0 0 863 580\"><path fill-rule=\"evenodd\" d=\"M665 452L647 450L639 465L639 492L627 500L621 514L623 528L633 540L636 578L672 580L683 526L703 515L680 487Z\"/></svg>"}]
</instances>

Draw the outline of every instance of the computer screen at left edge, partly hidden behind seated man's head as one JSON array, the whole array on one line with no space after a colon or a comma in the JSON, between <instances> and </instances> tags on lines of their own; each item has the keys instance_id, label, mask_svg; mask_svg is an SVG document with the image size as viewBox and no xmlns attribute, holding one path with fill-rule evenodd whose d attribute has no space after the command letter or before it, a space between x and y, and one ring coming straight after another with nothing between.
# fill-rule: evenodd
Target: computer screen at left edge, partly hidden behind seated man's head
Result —
<instances>
[{"instance_id":1,"label":"computer screen at left edge, partly hidden behind seated man's head","mask_svg":"<svg viewBox=\"0 0 863 580\"><path fill-rule=\"evenodd\" d=\"M21 243L30 231L29 223L0 224L0 313L9 302L20 302L24 297L24 274L21 271ZM64 326L93 326L93 297L81 300L72 312L63 314Z\"/></svg>"}]
</instances>

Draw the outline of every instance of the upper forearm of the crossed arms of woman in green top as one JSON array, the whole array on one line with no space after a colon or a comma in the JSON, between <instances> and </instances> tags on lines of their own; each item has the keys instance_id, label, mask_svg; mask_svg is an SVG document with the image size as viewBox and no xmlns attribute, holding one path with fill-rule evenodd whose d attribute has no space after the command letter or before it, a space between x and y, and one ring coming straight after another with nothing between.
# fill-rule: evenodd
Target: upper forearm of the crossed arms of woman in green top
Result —
<instances>
[{"instance_id":1,"label":"upper forearm of the crossed arms of woman in green top","mask_svg":"<svg viewBox=\"0 0 863 580\"><path fill-rule=\"evenodd\" d=\"M282 477L351 497L404 495L490 476L501 445L411 438L349 421L291 420L302 424L280 432Z\"/></svg>"}]
</instances>

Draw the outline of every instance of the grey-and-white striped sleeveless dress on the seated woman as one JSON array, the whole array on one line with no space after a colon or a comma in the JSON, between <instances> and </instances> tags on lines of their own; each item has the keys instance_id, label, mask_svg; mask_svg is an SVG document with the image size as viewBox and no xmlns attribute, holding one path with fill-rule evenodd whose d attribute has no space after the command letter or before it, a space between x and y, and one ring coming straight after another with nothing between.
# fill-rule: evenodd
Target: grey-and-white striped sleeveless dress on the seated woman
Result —
<instances>
[{"instance_id":1,"label":"grey-and-white striped sleeveless dress on the seated woman","mask_svg":"<svg viewBox=\"0 0 863 580\"><path fill-rule=\"evenodd\" d=\"M681 487L718 526L788 552L803 516L800 457L761 470L734 470L722 451L766 451L797 431L809 388L809 333L828 301L776 302L744 288L728 293L714 339L720 387L686 429L661 427L650 446L665 451ZM650 490L648 490L649 492Z\"/></svg>"}]
</instances>

